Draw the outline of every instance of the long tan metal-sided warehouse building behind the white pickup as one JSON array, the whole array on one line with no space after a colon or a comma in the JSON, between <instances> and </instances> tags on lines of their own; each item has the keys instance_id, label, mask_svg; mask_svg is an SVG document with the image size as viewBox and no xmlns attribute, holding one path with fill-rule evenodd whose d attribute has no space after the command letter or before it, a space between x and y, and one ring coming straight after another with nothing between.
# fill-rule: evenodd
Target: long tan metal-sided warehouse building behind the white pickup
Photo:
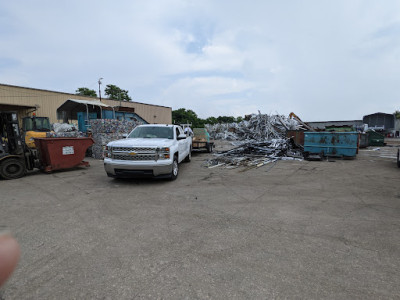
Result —
<instances>
[{"instance_id":1,"label":"long tan metal-sided warehouse building behind the white pickup","mask_svg":"<svg viewBox=\"0 0 400 300\"><path fill-rule=\"evenodd\" d=\"M98 98L75 94L0 83L0 110L16 110L22 117L35 111L39 117L49 117L52 123L60 122L62 120L57 116L57 108L68 99L98 100ZM120 102L116 100L102 98L101 102L112 107L120 106ZM139 102L121 102L121 108L133 111L148 123L171 124L172 122L171 107Z\"/></svg>"}]
</instances>

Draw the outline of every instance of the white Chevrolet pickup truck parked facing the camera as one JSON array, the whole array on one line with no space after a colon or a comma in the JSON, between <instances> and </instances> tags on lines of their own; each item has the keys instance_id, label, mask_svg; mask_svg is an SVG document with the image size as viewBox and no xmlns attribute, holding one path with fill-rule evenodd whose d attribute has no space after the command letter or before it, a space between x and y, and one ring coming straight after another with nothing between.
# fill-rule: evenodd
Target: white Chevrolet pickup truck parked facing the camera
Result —
<instances>
[{"instance_id":1,"label":"white Chevrolet pickup truck parked facing the camera","mask_svg":"<svg viewBox=\"0 0 400 300\"><path fill-rule=\"evenodd\" d=\"M178 125L137 126L126 139L107 144L104 169L114 178L178 177L178 164L190 162L192 137Z\"/></svg>"}]
</instances>

